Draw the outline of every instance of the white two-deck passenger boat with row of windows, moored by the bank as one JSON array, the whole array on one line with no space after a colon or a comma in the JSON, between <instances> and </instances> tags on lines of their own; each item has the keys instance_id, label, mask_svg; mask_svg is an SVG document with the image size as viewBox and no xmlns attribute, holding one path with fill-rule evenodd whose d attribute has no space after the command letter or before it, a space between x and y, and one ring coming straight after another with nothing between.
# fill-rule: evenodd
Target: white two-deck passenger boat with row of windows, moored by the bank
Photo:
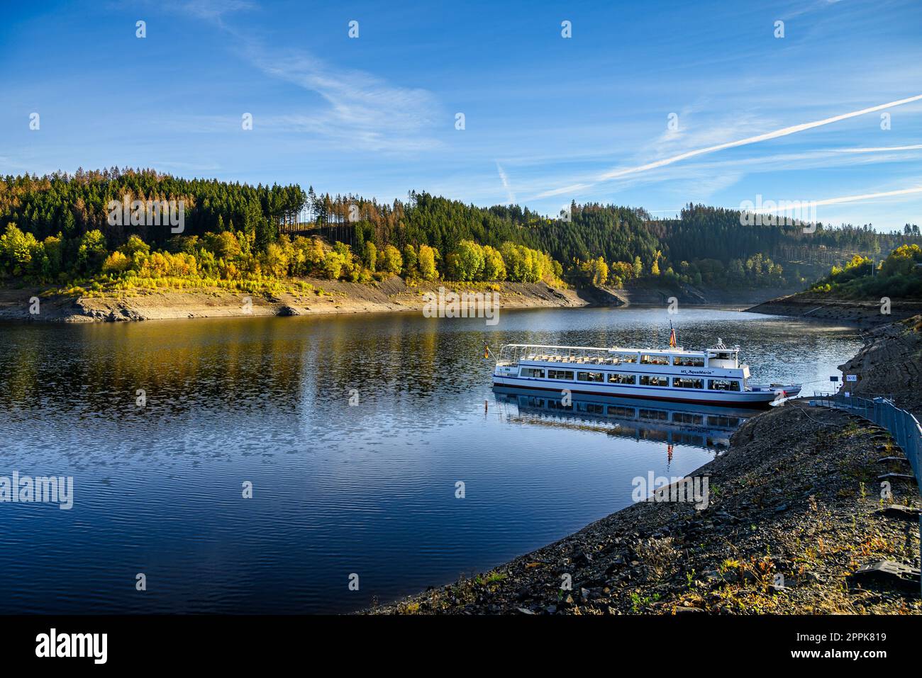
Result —
<instances>
[{"instance_id":1,"label":"white two-deck passenger boat with row of windows, moored by the bank","mask_svg":"<svg viewBox=\"0 0 922 678\"><path fill-rule=\"evenodd\" d=\"M670 345L675 343L674 334ZM739 346L703 351L507 344L493 370L494 386L568 390L646 400L760 406L796 396L800 384L752 384Z\"/></svg>"}]
</instances>

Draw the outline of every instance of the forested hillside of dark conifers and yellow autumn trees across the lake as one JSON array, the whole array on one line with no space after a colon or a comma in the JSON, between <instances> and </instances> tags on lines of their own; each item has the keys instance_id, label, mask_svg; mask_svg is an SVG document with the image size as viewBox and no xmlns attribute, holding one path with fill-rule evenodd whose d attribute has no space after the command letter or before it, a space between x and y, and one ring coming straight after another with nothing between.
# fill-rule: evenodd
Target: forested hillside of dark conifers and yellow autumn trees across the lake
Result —
<instances>
[{"instance_id":1,"label":"forested hillside of dark conifers and yellow autumn trees across the lake","mask_svg":"<svg viewBox=\"0 0 922 678\"><path fill-rule=\"evenodd\" d=\"M124 205L124 218L112 218L111 201ZM149 205L141 203L127 214L133 201L182 201L182 226L152 219ZM260 289L299 276L372 282L389 275L797 286L812 281L801 274L805 257L821 253L834 263L846 252L845 261L853 252L874 256L922 241L918 227L908 224L903 233L880 234L869 225L818 224L805 232L799 225L744 221L739 211L703 205L688 205L679 218L655 220L643 209L573 204L569 214L549 218L518 205L479 207L425 192L411 191L406 201L386 205L297 185L81 169L0 180L0 275L7 284L90 291Z\"/></svg>"}]
</instances>

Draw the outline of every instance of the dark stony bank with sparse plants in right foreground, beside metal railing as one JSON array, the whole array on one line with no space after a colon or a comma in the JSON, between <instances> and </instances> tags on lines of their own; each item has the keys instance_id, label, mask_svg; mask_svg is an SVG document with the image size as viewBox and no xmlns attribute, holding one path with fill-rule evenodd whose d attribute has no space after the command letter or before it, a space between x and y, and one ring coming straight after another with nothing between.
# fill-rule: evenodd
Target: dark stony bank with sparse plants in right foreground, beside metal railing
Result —
<instances>
[{"instance_id":1,"label":"dark stony bank with sparse plants in right foreground, beside metal railing","mask_svg":"<svg viewBox=\"0 0 922 678\"><path fill-rule=\"evenodd\" d=\"M922 317L869 334L847 370L857 392L894 377L919 412ZM751 418L690 477L710 502L639 502L489 572L370 614L922 614L918 511L908 465L884 429L788 402ZM881 497L884 473L892 496ZM906 579L861 572L878 561ZM564 576L572 584L567 587Z\"/></svg>"}]
</instances>

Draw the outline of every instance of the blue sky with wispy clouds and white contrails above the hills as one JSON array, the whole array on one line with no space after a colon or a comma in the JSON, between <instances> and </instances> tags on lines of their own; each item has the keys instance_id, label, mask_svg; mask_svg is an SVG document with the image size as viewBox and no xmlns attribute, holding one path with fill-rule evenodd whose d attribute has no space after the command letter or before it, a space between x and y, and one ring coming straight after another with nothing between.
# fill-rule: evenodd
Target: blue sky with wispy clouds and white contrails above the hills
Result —
<instances>
[{"instance_id":1,"label":"blue sky with wispy clouds and white contrails above the hills","mask_svg":"<svg viewBox=\"0 0 922 678\"><path fill-rule=\"evenodd\" d=\"M922 224L922 99L797 128L922 95L917 0L31 5L0 10L3 174L153 167L549 214L762 195Z\"/></svg>"}]
</instances>

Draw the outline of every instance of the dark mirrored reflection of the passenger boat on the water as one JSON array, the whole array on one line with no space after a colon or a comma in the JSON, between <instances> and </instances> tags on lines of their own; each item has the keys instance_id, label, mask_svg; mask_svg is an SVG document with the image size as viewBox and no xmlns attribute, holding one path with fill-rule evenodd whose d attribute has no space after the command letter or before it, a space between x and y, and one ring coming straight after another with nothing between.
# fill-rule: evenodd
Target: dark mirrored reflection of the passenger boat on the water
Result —
<instances>
[{"instance_id":1,"label":"dark mirrored reflection of the passenger boat on the water","mask_svg":"<svg viewBox=\"0 0 922 678\"><path fill-rule=\"evenodd\" d=\"M564 404L560 391L494 386L508 421L600 430L609 436L703 449L726 449L730 436L749 417L749 408L573 393Z\"/></svg>"}]
</instances>

